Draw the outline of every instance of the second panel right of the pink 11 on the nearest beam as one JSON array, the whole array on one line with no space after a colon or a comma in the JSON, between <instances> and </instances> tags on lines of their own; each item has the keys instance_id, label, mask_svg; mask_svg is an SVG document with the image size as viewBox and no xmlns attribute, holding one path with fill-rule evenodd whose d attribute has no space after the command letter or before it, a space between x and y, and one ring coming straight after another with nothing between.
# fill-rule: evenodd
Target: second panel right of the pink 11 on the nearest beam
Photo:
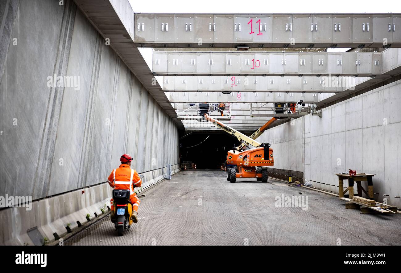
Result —
<instances>
[{"instance_id":1,"label":"second panel right of the pink 11 on the nearest beam","mask_svg":"<svg viewBox=\"0 0 401 273\"><path fill-rule=\"evenodd\" d=\"M294 14L292 23L292 37L295 44L311 44L315 29L312 14Z\"/></svg>"}]
</instances>

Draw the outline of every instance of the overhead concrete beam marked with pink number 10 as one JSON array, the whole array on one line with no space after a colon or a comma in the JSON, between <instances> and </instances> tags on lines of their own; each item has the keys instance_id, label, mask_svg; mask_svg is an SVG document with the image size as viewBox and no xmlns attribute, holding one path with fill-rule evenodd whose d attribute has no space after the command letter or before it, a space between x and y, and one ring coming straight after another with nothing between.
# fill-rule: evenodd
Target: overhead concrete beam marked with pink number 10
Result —
<instances>
[{"instance_id":1,"label":"overhead concrete beam marked with pink number 10","mask_svg":"<svg viewBox=\"0 0 401 273\"><path fill-rule=\"evenodd\" d=\"M374 76L390 73L382 52L153 52L157 76Z\"/></svg>"}]
</instances>

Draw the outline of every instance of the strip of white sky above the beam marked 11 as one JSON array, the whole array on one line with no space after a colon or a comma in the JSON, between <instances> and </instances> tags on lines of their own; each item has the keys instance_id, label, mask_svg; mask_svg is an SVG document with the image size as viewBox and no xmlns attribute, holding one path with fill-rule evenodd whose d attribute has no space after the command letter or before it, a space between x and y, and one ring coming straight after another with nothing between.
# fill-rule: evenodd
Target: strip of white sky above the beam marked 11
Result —
<instances>
[{"instance_id":1,"label":"strip of white sky above the beam marked 11","mask_svg":"<svg viewBox=\"0 0 401 273\"><path fill-rule=\"evenodd\" d=\"M400 0L129 0L134 12L161 13L348 13L401 12Z\"/></svg>"}]
</instances>

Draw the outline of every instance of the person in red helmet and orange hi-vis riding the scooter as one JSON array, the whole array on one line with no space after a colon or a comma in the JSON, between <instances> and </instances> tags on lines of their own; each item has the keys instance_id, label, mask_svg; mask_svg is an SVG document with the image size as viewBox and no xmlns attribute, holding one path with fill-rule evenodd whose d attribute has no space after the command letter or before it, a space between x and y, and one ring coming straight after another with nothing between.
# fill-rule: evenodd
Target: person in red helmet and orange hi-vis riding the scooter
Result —
<instances>
[{"instance_id":1,"label":"person in red helmet and orange hi-vis riding the scooter","mask_svg":"<svg viewBox=\"0 0 401 273\"><path fill-rule=\"evenodd\" d=\"M124 154L120 157L121 165L114 169L109 178L107 179L110 187L116 190L130 190L130 202L132 204L132 216L131 219L134 223L138 222L138 207L141 201L136 196L134 192L135 187L141 187L142 180L139 177L138 173L131 169L131 161L133 158ZM110 200L111 203L111 219L114 219L114 206L113 199Z\"/></svg>"}]
</instances>

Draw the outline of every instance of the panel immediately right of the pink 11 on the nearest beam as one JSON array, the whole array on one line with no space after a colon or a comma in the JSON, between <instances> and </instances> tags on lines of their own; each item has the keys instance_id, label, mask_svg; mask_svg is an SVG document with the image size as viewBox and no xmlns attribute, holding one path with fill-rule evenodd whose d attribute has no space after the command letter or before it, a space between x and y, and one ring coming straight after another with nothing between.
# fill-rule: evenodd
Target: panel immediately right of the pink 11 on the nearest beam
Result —
<instances>
[{"instance_id":1,"label":"panel immediately right of the pink 11 on the nearest beam","mask_svg":"<svg viewBox=\"0 0 401 273\"><path fill-rule=\"evenodd\" d=\"M273 14L273 42L291 44L293 28L292 14Z\"/></svg>"}]
</instances>

